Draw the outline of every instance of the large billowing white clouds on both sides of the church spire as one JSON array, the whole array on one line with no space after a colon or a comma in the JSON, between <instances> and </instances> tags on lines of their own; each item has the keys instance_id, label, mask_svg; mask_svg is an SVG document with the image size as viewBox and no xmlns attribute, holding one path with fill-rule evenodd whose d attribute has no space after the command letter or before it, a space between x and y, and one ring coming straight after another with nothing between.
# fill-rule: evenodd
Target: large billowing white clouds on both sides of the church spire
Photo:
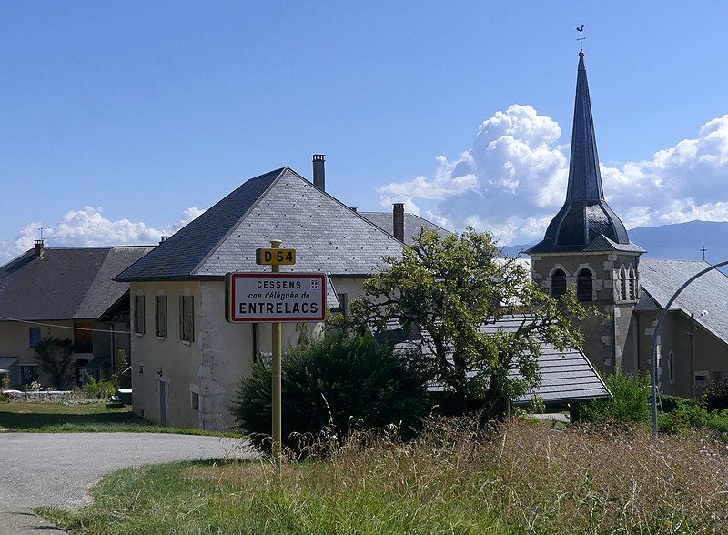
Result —
<instances>
[{"instance_id":1,"label":"large billowing white clouds on both sides of the church spire","mask_svg":"<svg viewBox=\"0 0 728 535\"><path fill-rule=\"evenodd\" d=\"M404 202L440 225L489 231L503 244L543 233L566 196L569 146L532 106L512 105L484 121L470 149L438 157L432 177L379 188L383 206ZM728 220L728 115L652 159L602 165L607 201L628 228L693 219Z\"/></svg>"}]
</instances>

